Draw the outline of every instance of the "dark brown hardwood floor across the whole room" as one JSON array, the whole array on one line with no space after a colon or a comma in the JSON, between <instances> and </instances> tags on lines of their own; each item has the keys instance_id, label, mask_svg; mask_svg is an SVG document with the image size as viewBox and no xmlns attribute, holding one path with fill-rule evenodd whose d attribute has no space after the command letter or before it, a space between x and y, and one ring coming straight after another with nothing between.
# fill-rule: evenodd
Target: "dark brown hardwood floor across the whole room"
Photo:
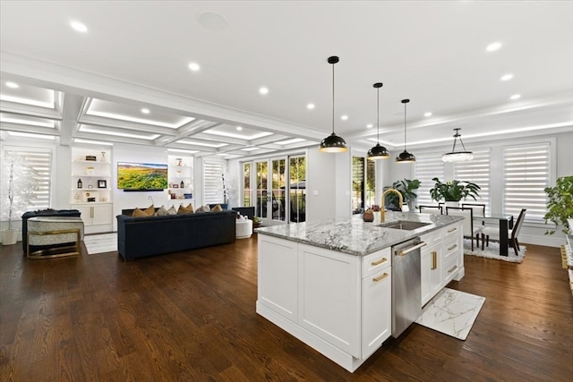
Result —
<instances>
[{"instance_id":1,"label":"dark brown hardwood floor across the whole room","mask_svg":"<svg viewBox=\"0 0 573 382\"><path fill-rule=\"evenodd\" d=\"M256 235L255 235L256 236ZM349 373L255 313L256 237L124 262L0 254L2 381L570 381L560 251L466 256L449 287L486 298L466 341L416 324ZM144 237L141 240L145 240Z\"/></svg>"}]
</instances>

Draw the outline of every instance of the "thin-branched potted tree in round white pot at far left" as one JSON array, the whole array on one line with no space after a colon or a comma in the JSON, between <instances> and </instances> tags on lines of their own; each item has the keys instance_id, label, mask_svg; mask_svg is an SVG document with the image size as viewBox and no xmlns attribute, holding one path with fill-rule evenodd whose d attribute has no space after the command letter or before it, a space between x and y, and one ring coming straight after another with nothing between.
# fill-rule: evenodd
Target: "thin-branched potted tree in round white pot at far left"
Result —
<instances>
[{"instance_id":1,"label":"thin-branched potted tree in round white pot at far left","mask_svg":"<svg viewBox=\"0 0 573 382\"><path fill-rule=\"evenodd\" d=\"M19 230L13 219L30 206L36 190L34 170L26 160L13 151L4 151L2 161L2 219L8 219L8 229L2 231L2 245L15 244Z\"/></svg>"}]
</instances>

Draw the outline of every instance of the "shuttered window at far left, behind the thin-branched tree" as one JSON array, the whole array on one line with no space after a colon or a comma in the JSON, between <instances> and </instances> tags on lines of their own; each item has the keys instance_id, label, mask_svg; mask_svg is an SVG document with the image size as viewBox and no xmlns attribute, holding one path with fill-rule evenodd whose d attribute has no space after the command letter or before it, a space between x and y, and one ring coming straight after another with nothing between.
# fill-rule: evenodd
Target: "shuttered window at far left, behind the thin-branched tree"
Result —
<instances>
[{"instance_id":1,"label":"shuttered window at far left, behind the thin-branched tree","mask_svg":"<svg viewBox=\"0 0 573 382\"><path fill-rule=\"evenodd\" d=\"M50 149L4 148L2 153L2 220L8 220L8 189L11 174L12 219L32 209L50 207L52 151Z\"/></svg>"}]
</instances>

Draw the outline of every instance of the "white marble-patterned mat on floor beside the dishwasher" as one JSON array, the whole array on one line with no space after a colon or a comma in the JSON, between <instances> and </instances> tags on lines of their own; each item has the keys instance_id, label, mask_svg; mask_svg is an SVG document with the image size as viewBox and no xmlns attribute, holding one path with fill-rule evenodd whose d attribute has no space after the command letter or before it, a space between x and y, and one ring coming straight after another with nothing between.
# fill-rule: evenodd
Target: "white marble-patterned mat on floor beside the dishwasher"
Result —
<instances>
[{"instance_id":1,"label":"white marble-patterned mat on floor beside the dishwasher","mask_svg":"<svg viewBox=\"0 0 573 382\"><path fill-rule=\"evenodd\" d=\"M485 297L444 288L423 307L416 324L466 340Z\"/></svg>"}]
</instances>

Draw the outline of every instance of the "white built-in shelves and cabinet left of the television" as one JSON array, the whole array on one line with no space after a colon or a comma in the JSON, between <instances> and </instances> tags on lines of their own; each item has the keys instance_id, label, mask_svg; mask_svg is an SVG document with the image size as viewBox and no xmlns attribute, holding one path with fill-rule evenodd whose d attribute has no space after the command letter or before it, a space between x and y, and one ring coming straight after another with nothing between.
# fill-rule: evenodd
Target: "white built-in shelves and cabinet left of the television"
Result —
<instances>
[{"instance_id":1,"label":"white built-in shelves and cabinet left of the television","mask_svg":"<svg viewBox=\"0 0 573 382\"><path fill-rule=\"evenodd\" d=\"M111 149L72 149L72 200L81 212L85 233L113 230Z\"/></svg>"}]
</instances>

